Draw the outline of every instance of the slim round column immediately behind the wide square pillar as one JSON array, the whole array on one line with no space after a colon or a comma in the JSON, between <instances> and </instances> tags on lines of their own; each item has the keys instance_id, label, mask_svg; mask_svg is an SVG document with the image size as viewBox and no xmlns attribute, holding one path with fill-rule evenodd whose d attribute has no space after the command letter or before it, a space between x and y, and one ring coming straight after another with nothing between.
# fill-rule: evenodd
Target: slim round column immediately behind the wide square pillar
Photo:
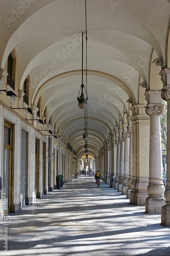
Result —
<instances>
[{"instance_id":1,"label":"slim round column immediately behind the wide square pillar","mask_svg":"<svg viewBox=\"0 0 170 256\"><path fill-rule=\"evenodd\" d=\"M128 126L128 133L130 134L130 142L129 142L129 179L128 179L127 198L130 198L131 182L132 182L132 126Z\"/></svg>"}]
</instances>

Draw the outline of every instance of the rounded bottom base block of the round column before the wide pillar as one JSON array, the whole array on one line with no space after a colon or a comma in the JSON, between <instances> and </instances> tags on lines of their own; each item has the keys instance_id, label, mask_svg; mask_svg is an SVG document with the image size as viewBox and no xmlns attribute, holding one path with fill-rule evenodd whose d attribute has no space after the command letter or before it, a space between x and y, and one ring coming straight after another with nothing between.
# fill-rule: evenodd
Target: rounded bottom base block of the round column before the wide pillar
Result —
<instances>
[{"instance_id":1,"label":"rounded bottom base block of the round column before the wide pillar","mask_svg":"<svg viewBox=\"0 0 170 256\"><path fill-rule=\"evenodd\" d=\"M145 200L145 212L147 214L161 214L161 208L164 204L165 199L163 198L147 197Z\"/></svg>"}]
</instances>

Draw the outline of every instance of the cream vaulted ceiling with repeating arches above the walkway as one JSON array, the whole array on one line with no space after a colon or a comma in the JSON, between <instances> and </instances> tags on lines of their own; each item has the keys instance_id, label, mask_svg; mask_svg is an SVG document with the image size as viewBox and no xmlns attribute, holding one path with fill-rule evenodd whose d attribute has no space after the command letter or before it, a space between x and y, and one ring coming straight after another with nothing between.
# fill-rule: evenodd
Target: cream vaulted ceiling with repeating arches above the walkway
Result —
<instances>
[{"instance_id":1,"label":"cream vaulted ceiling with repeating arches above the walkway","mask_svg":"<svg viewBox=\"0 0 170 256\"><path fill-rule=\"evenodd\" d=\"M39 97L52 125L79 154L84 148L81 86L85 0L1 1L1 68L15 48L19 90L28 74L31 103ZM165 59L170 4L166 0L87 0L88 147L98 155L127 100L149 83L152 50ZM85 44L84 44L85 52ZM84 58L85 59L85 58ZM85 76L84 76L85 79Z\"/></svg>"}]
</instances>

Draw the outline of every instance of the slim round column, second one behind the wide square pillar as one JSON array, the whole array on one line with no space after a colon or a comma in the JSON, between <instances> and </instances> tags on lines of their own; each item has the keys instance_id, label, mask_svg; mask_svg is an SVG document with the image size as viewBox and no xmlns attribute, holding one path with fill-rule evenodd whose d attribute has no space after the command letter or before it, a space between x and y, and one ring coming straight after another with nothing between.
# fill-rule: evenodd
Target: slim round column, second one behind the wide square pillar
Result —
<instances>
[{"instance_id":1,"label":"slim round column, second one behind the wide square pillar","mask_svg":"<svg viewBox=\"0 0 170 256\"><path fill-rule=\"evenodd\" d=\"M123 178L122 194L127 195L128 179L129 179L130 134L128 132L123 132L123 137L125 138L125 154L124 154L124 178Z\"/></svg>"}]
</instances>

